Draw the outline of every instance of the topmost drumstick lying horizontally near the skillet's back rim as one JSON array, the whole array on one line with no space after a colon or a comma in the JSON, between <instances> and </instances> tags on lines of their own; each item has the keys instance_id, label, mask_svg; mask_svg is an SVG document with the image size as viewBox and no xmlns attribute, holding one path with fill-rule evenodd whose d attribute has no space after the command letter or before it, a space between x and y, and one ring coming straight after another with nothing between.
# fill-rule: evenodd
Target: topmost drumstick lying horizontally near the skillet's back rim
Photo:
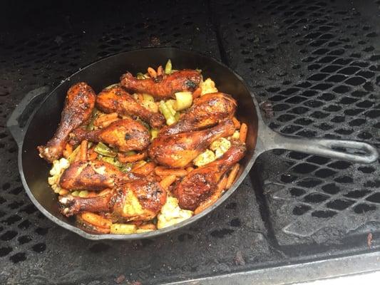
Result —
<instances>
[{"instance_id":1,"label":"topmost drumstick lying horizontally near the skillet's back rim","mask_svg":"<svg viewBox=\"0 0 380 285\"><path fill-rule=\"evenodd\" d=\"M130 92L148 93L158 99L173 97L180 91L194 91L200 84L201 74L191 69L176 71L170 75L156 78L138 79L125 73L120 78L120 84Z\"/></svg>"}]
</instances>

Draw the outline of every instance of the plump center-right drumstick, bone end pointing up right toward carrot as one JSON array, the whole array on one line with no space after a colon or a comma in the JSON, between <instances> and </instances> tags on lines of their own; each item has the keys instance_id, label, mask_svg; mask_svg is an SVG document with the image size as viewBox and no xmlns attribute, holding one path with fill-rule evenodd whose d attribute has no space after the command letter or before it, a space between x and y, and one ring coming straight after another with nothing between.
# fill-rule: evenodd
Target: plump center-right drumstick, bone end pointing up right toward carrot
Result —
<instances>
[{"instance_id":1,"label":"plump center-right drumstick, bone end pointing up right toward carrot","mask_svg":"<svg viewBox=\"0 0 380 285\"><path fill-rule=\"evenodd\" d=\"M207 130L198 130L176 135L163 135L150 144L148 155L160 165L185 167L204 152L211 142L227 137L235 132L231 119L223 120L219 125Z\"/></svg>"}]
</instances>

